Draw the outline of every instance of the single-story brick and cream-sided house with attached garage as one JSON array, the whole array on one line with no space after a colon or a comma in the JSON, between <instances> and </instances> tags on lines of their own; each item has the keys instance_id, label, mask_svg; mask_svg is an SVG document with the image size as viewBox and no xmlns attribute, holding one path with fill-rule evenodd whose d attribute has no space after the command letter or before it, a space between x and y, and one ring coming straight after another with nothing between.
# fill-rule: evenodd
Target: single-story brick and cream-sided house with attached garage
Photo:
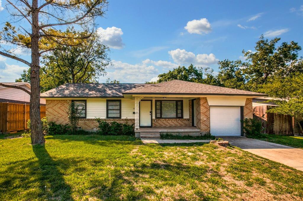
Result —
<instances>
[{"instance_id":1,"label":"single-story brick and cream-sided house with attached garage","mask_svg":"<svg viewBox=\"0 0 303 201\"><path fill-rule=\"evenodd\" d=\"M252 118L252 99L265 94L172 80L159 84L67 83L41 94L48 121L68 123L68 101L84 108L79 126L96 117L134 123L136 136L159 132L243 136L241 119Z\"/></svg>"}]
</instances>

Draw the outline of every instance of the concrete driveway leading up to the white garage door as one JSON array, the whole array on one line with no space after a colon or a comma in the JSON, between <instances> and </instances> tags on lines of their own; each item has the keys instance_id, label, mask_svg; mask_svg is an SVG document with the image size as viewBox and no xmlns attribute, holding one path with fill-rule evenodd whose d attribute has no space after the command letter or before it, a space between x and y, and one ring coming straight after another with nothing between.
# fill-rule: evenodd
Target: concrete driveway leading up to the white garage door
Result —
<instances>
[{"instance_id":1,"label":"concrete driveway leading up to the white garage door","mask_svg":"<svg viewBox=\"0 0 303 201\"><path fill-rule=\"evenodd\" d=\"M276 161L303 171L303 149L279 145L257 139L233 136L216 136L227 140L231 145L269 160Z\"/></svg>"}]
</instances>

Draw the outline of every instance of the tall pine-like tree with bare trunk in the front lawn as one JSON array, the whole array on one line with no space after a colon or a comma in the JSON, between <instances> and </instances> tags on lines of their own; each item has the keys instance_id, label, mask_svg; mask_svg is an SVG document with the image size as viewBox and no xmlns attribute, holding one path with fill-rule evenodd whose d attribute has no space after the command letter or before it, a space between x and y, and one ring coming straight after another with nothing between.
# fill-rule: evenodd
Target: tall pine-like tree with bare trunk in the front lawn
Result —
<instances>
[{"instance_id":1,"label":"tall pine-like tree with bare trunk in the front lawn","mask_svg":"<svg viewBox=\"0 0 303 201\"><path fill-rule=\"evenodd\" d=\"M40 56L56 49L58 44L74 46L81 43L79 39L89 38L94 32L95 18L103 16L107 2L103 0L6 1L8 2L6 9L12 19L5 23L0 33L0 40L12 44L15 48L30 49L31 61L18 57L3 44L0 44L0 55L23 62L31 68L31 141L32 144L42 144L45 139L40 122ZM24 26L25 24L27 25ZM82 31L74 34L58 30L71 25L76 25Z\"/></svg>"}]
</instances>

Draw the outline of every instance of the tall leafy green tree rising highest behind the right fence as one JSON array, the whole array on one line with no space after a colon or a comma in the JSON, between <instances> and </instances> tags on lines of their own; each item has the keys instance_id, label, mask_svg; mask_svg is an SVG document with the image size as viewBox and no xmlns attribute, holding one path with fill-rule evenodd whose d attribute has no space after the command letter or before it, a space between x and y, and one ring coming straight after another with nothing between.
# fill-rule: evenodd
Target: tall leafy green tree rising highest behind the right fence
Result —
<instances>
[{"instance_id":1,"label":"tall leafy green tree rising highest behind the right fence","mask_svg":"<svg viewBox=\"0 0 303 201\"><path fill-rule=\"evenodd\" d=\"M242 51L247 61L243 72L247 75L247 84L251 90L258 91L258 87L266 84L273 76L284 77L294 72L303 72L302 58L298 58L301 46L294 41L277 46L280 40L281 38L268 40L261 35L255 52Z\"/></svg>"}]
</instances>

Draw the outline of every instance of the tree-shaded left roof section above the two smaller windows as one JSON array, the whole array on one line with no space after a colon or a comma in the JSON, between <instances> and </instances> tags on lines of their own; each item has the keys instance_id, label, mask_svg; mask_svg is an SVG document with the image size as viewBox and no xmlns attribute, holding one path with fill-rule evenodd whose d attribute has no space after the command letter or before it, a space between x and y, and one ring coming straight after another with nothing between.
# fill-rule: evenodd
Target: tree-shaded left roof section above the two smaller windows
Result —
<instances>
[{"instance_id":1,"label":"tree-shaded left roof section above the two smaller windows","mask_svg":"<svg viewBox=\"0 0 303 201\"><path fill-rule=\"evenodd\" d=\"M41 94L47 97L123 97L122 92L150 84L67 83Z\"/></svg>"}]
</instances>

